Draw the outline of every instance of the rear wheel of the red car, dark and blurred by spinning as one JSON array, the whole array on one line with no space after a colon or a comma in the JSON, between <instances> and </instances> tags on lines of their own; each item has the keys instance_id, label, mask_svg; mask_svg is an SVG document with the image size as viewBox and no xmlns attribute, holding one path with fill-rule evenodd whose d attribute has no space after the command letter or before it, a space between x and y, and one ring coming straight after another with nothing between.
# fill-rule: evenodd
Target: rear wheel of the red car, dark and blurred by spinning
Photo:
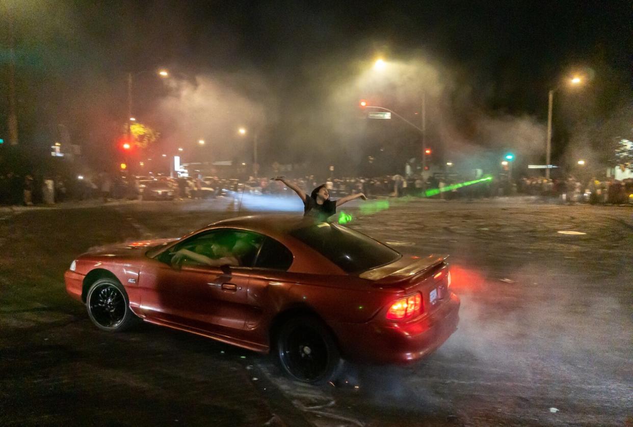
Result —
<instances>
[{"instance_id":1,"label":"rear wheel of the red car, dark and blurred by spinning","mask_svg":"<svg viewBox=\"0 0 633 427\"><path fill-rule=\"evenodd\" d=\"M342 364L334 337L314 317L296 317L284 323L275 340L275 352L287 375L313 385L330 381Z\"/></svg>"}]
</instances>

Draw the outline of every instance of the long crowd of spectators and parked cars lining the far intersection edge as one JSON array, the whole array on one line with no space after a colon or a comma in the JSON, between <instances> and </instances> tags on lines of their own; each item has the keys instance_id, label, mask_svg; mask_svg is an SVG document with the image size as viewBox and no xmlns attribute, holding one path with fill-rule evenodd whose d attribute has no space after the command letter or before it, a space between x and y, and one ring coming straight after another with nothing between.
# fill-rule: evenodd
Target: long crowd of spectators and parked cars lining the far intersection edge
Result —
<instances>
[{"instance_id":1,"label":"long crowd of spectators and parked cars lining the far intersection edge","mask_svg":"<svg viewBox=\"0 0 633 427\"><path fill-rule=\"evenodd\" d=\"M581 181L570 176L567 179L522 177L517 181L508 181L501 177L468 186L452 185L472 179L472 177L436 174L423 180L420 176L406 177L396 174L381 177L329 178L325 180L325 184L333 198L354 193L365 193L369 198L429 196L426 190L440 189L439 193L434 192L431 197L451 200L527 195L565 203L633 203L633 179L616 181L598 180L594 177L588 181ZM303 176L290 179L290 181L308 193L323 183L315 176ZM211 176L125 177L120 174L101 172L94 176L65 179L61 176L34 177L30 174L25 176L6 174L0 176L0 204L32 205L99 198L104 202L117 199L134 200L142 198L147 183L156 182L163 183L165 188L169 189L168 200L234 196L242 191L278 196L294 194L280 181L273 181L268 177L249 177L246 180Z\"/></svg>"}]
</instances>

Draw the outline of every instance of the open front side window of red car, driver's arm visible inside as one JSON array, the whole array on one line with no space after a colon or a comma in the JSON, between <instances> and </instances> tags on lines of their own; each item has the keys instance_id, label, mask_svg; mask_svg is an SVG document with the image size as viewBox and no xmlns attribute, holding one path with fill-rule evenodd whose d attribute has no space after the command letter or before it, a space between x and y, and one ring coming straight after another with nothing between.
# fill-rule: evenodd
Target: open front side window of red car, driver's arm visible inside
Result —
<instances>
[{"instance_id":1,"label":"open front side window of red car, driver's arm visible inside","mask_svg":"<svg viewBox=\"0 0 633 427\"><path fill-rule=\"evenodd\" d=\"M262 241L263 236L254 232L215 229L173 246L160 261L171 265L252 267Z\"/></svg>"}]
</instances>

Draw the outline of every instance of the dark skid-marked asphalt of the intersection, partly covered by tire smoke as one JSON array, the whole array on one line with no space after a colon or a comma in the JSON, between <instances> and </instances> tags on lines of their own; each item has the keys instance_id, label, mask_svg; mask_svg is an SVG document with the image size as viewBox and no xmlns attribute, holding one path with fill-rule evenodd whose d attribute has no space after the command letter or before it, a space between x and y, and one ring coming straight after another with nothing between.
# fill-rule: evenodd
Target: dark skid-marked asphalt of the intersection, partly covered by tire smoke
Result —
<instances>
[{"instance_id":1,"label":"dark skid-marked asphalt of the intersection, partly covered by tire smoke","mask_svg":"<svg viewBox=\"0 0 633 427\"><path fill-rule=\"evenodd\" d=\"M346 366L334 385L268 356L142 325L92 326L63 272L94 246L180 236L292 200L66 204L0 212L0 425L633 423L633 208L537 200L345 205L396 250L451 255L460 327L410 366Z\"/></svg>"}]
</instances>

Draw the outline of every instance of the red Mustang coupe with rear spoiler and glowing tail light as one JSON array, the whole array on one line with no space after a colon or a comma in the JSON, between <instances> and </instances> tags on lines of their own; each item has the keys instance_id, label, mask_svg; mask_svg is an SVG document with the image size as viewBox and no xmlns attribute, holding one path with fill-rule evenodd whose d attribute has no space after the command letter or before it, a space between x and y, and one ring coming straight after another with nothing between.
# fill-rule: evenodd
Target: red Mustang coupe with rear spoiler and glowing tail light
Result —
<instances>
[{"instance_id":1,"label":"red Mustang coupe with rear spoiler and glowing tail light","mask_svg":"<svg viewBox=\"0 0 633 427\"><path fill-rule=\"evenodd\" d=\"M94 324L139 318L258 352L296 380L322 383L341 358L413 361L457 328L446 256L404 256L348 227L265 215L180 239L81 255L66 290Z\"/></svg>"}]
</instances>

